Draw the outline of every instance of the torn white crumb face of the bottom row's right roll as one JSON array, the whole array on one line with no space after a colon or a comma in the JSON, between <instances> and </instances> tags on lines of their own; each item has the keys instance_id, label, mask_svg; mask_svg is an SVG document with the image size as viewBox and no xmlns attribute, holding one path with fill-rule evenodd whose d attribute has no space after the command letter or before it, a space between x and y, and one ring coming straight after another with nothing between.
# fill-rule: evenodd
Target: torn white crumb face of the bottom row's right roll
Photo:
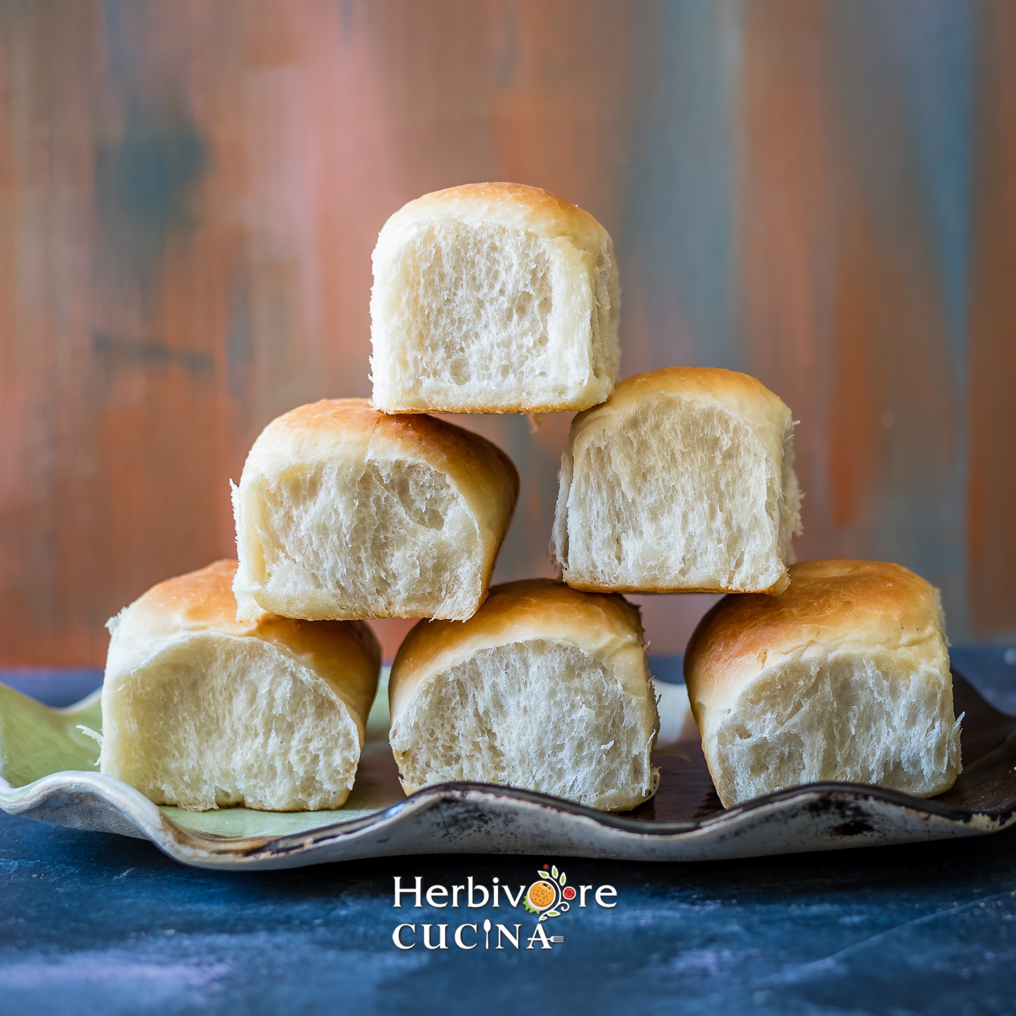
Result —
<instances>
[{"instance_id":1,"label":"torn white crumb face of the bottom row's right roll","mask_svg":"<svg viewBox=\"0 0 1016 1016\"><path fill-rule=\"evenodd\" d=\"M960 769L945 671L860 652L764 671L729 709L707 715L703 748L720 801L731 808L821 780L943 792Z\"/></svg>"}]
</instances>

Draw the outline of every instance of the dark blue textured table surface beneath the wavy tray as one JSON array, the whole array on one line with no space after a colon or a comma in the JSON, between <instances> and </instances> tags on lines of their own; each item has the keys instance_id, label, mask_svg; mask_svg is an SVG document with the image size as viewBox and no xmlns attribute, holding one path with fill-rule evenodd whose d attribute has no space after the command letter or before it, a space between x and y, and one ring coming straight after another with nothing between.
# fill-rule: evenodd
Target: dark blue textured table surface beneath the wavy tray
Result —
<instances>
[{"instance_id":1,"label":"dark blue textured table surface beneath the wavy tray","mask_svg":"<svg viewBox=\"0 0 1016 1016\"><path fill-rule=\"evenodd\" d=\"M1016 712L1016 653L957 669ZM1013 663L1006 662L1012 658ZM673 677L674 661L659 661ZM0 673L53 704L92 672ZM612 909L551 922L552 950L399 951L401 922L509 918L395 909L424 888L517 886L560 862ZM408 902L408 901L407 901ZM533 920L526 915L528 934ZM435 930L435 934L437 934ZM481 944L483 933L480 933ZM410 936L411 937L411 936ZM493 944L493 943L492 943ZM282 873L183 868L140 840L0 813L0 1014L1016 1011L1016 830L967 841L698 865L420 856Z\"/></svg>"}]
</instances>

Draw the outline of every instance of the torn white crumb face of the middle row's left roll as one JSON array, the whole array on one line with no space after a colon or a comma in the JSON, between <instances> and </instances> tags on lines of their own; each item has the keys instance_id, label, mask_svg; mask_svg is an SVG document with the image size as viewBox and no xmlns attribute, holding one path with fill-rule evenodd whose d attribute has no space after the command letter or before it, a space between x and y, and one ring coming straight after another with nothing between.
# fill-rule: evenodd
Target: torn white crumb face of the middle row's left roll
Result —
<instances>
[{"instance_id":1,"label":"torn white crumb face of the middle row's left roll","mask_svg":"<svg viewBox=\"0 0 1016 1016\"><path fill-rule=\"evenodd\" d=\"M242 595L251 567L242 556L241 619L259 609L310 620L461 619L483 598L477 520L425 462L300 463L260 478L236 510L238 531L253 526L263 576L254 604Z\"/></svg>"}]
</instances>

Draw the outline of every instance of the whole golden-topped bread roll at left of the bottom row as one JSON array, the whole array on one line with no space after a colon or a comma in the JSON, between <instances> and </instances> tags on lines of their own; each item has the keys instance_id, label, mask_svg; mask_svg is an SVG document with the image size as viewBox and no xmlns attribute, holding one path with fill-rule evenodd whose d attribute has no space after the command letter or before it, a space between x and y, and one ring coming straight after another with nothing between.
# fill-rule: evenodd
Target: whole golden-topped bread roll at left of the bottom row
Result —
<instances>
[{"instance_id":1,"label":"whole golden-topped bread roll at left of the bottom row","mask_svg":"<svg viewBox=\"0 0 1016 1016\"><path fill-rule=\"evenodd\" d=\"M362 621L240 624L235 561L153 586L109 624L103 772L157 805L339 808L381 648Z\"/></svg>"}]
</instances>

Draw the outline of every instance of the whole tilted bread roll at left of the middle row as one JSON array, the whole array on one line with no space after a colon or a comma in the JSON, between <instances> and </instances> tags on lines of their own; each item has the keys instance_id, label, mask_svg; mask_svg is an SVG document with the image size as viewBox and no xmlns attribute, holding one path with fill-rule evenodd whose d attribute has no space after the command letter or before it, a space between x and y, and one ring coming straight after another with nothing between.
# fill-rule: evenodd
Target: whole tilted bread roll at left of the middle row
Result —
<instances>
[{"instance_id":1,"label":"whole tilted bread roll at left of the middle row","mask_svg":"<svg viewBox=\"0 0 1016 1016\"><path fill-rule=\"evenodd\" d=\"M270 423L234 489L241 620L469 617L518 498L490 441L366 399Z\"/></svg>"}]
</instances>

